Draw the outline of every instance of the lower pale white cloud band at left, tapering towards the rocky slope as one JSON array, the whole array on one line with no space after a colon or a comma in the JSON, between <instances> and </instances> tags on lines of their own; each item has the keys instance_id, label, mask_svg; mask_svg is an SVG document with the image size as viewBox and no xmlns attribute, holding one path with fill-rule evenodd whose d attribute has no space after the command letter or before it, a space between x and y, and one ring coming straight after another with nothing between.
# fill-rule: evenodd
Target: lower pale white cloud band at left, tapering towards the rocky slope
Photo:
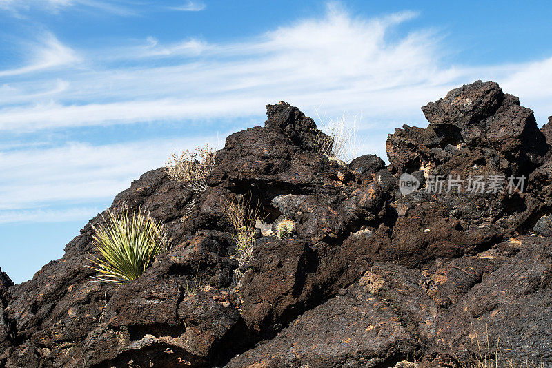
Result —
<instances>
[{"instance_id":1,"label":"lower pale white cloud band at left, tapering towards the rocky slope","mask_svg":"<svg viewBox=\"0 0 552 368\"><path fill-rule=\"evenodd\" d=\"M18 215L23 218L34 207L57 202L109 200L145 171L163 166L171 151L195 148L197 142L216 146L217 138L156 139L103 146L74 142L59 148L0 152L0 173L9 173L9 179L0 182L0 218L24 210Z\"/></svg>"}]
</instances>

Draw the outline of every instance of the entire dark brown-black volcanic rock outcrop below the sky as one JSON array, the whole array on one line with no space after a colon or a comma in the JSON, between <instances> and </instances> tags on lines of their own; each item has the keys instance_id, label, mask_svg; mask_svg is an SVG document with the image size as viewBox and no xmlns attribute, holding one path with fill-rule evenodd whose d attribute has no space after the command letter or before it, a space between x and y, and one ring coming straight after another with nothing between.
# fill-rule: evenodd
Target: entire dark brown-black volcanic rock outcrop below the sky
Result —
<instances>
[{"instance_id":1,"label":"entire dark brown-black volcanic rock outcrop below the sky","mask_svg":"<svg viewBox=\"0 0 552 368\"><path fill-rule=\"evenodd\" d=\"M318 155L323 133L280 102L226 139L200 195L145 173L112 208L150 211L171 248L137 280L90 282L98 215L32 280L0 271L0 367L455 367L487 338L552 365L551 123L493 82L422 110L426 128L389 135L388 166ZM404 173L418 191L397 191ZM431 175L526 186L426 193ZM244 197L296 231L259 231L238 284L224 199Z\"/></svg>"}]
</instances>

